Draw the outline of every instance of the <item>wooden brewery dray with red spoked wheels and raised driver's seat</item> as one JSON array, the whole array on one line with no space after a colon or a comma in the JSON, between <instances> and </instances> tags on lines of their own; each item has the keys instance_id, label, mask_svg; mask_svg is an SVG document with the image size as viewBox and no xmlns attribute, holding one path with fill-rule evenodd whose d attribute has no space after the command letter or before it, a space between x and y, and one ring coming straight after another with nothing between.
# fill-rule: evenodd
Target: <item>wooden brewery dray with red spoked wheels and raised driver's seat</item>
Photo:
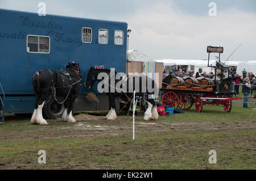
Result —
<instances>
[{"instance_id":1,"label":"wooden brewery dray with red spoked wheels and raised driver's seat","mask_svg":"<svg viewBox=\"0 0 256 181\"><path fill-rule=\"evenodd\" d=\"M208 47L207 52L210 53L222 53L222 47ZM219 55L220 57L220 55ZM209 56L208 56L208 66L209 66ZM229 77L229 66L218 61L216 66L210 66L214 68L215 75L212 79L213 83L209 85L200 85L200 83L192 83L192 85L187 85L185 82L180 82L174 85L171 82L171 77L163 79L163 89L160 89L160 96L162 97L162 104L172 107L181 108L182 110L190 109L193 104L195 104L196 111L201 112L203 110L203 105L216 104L223 105L225 112L230 112L232 110L232 100L241 98L232 98L234 94L234 83L233 80L237 77ZM170 75L169 75L170 76ZM199 84L199 85L197 85Z\"/></svg>"}]
</instances>

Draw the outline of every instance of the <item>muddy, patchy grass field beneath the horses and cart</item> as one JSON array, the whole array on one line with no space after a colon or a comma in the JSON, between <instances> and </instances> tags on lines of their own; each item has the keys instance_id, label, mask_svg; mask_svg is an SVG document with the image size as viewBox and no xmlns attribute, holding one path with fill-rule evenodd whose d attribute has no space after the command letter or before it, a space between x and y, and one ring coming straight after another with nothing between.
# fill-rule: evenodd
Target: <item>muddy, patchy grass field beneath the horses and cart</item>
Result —
<instances>
[{"instance_id":1,"label":"muddy, patchy grass field beneath the horses and cart","mask_svg":"<svg viewBox=\"0 0 256 181\"><path fill-rule=\"evenodd\" d=\"M0 125L0 169L256 169L255 110L234 103L195 106L156 121L121 115L76 115L77 123L47 120L31 125L30 117L9 115ZM209 150L217 163L210 164ZM46 151L46 164L38 151Z\"/></svg>"}]
</instances>

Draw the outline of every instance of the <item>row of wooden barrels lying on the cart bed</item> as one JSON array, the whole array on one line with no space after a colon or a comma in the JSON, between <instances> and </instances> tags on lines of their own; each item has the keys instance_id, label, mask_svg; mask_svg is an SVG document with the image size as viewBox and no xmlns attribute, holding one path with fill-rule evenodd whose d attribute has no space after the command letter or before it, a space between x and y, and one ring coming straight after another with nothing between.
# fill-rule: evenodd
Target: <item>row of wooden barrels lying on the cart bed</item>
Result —
<instances>
[{"instance_id":1,"label":"row of wooden barrels lying on the cart bed","mask_svg":"<svg viewBox=\"0 0 256 181\"><path fill-rule=\"evenodd\" d=\"M170 79L170 85L172 87L176 86L185 86L185 87L201 87L202 89L206 89L208 87L212 87L214 82L210 78L206 77L172 77Z\"/></svg>"}]
</instances>

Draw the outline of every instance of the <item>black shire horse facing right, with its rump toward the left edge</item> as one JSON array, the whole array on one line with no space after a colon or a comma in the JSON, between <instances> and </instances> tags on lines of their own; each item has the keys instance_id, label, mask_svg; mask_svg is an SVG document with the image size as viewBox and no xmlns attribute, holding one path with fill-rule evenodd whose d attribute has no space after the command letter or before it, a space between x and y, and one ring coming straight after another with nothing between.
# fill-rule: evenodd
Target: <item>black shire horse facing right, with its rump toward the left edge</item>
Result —
<instances>
[{"instance_id":1,"label":"black shire horse facing right, with its rump toward the left edge","mask_svg":"<svg viewBox=\"0 0 256 181\"><path fill-rule=\"evenodd\" d=\"M65 110L62 115L63 121L75 123L72 116L73 103L77 98L77 92L81 86L82 77L79 64L68 62L66 69L63 71L40 70L36 71L32 78L32 84L35 92L35 110L31 117L31 124L47 125L43 118L42 109L51 96L63 97ZM57 100L56 100L57 101ZM58 101L57 101L58 102ZM58 102L60 103L60 102Z\"/></svg>"}]
</instances>

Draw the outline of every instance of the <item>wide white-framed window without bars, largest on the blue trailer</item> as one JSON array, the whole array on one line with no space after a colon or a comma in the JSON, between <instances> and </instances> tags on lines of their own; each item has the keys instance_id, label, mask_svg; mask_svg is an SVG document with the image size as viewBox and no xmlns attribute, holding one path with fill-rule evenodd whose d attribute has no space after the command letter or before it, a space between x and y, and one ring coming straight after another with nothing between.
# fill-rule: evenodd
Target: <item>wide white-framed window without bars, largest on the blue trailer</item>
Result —
<instances>
[{"instance_id":1,"label":"wide white-framed window without bars, largest on the blue trailer","mask_svg":"<svg viewBox=\"0 0 256 181\"><path fill-rule=\"evenodd\" d=\"M49 36L27 36L27 52L29 53L49 53Z\"/></svg>"}]
</instances>

